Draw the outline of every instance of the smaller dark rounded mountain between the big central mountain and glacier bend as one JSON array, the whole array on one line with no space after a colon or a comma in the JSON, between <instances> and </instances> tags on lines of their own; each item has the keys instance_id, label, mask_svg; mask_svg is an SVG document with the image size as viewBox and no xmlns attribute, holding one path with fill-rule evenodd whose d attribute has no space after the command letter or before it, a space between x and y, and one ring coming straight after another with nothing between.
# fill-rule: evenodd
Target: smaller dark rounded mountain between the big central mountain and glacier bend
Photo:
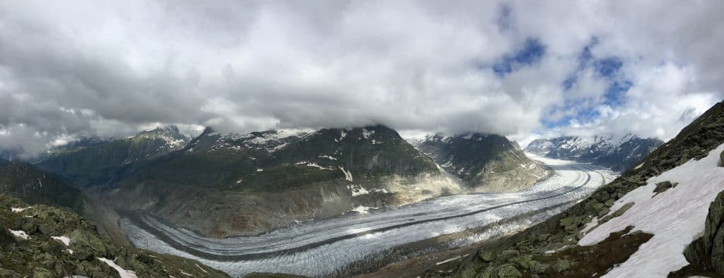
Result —
<instances>
[{"instance_id":1,"label":"smaller dark rounded mountain between the big central mountain and glacier bend","mask_svg":"<svg viewBox=\"0 0 724 278\"><path fill-rule=\"evenodd\" d=\"M518 191L549 174L504 136L434 134L414 144L475 191Z\"/></svg>"}]
</instances>

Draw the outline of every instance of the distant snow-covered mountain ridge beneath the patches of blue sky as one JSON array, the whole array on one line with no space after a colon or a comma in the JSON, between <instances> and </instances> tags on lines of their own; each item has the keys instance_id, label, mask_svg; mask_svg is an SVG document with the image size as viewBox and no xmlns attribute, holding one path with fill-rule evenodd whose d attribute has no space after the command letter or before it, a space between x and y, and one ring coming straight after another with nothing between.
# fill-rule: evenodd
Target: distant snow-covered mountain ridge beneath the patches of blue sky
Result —
<instances>
[{"instance_id":1,"label":"distant snow-covered mountain ridge beneath the patches of blue sky","mask_svg":"<svg viewBox=\"0 0 724 278\"><path fill-rule=\"evenodd\" d=\"M562 136L552 139L536 139L526 147L526 152L563 160L591 162L623 171L636 165L643 157L659 147L659 139L625 136Z\"/></svg>"}]
</instances>

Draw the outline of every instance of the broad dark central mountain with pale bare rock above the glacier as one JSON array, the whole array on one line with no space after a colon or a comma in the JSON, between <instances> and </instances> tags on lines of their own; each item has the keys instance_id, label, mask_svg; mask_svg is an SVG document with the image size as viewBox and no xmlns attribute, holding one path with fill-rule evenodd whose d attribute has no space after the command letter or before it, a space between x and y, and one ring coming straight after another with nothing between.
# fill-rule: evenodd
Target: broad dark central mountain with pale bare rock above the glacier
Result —
<instances>
[{"instance_id":1,"label":"broad dark central mountain with pale bare rock above the glacier","mask_svg":"<svg viewBox=\"0 0 724 278\"><path fill-rule=\"evenodd\" d=\"M396 131L367 126L251 134L207 129L107 196L119 208L223 237L460 191Z\"/></svg>"}]
</instances>

